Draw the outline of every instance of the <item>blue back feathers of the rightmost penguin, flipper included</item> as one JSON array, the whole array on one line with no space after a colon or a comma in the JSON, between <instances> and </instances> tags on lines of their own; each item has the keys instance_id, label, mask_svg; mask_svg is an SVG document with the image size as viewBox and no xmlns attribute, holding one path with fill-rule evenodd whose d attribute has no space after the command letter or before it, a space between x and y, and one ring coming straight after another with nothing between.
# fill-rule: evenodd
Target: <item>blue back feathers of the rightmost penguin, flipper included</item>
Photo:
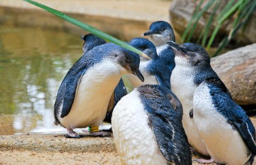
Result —
<instances>
[{"instance_id":1,"label":"blue back feathers of the rightmost penguin, flipper included","mask_svg":"<svg viewBox=\"0 0 256 165\"><path fill-rule=\"evenodd\" d=\"M246 112L230 97L228 89L220 78L208 78L205 82L210 89L214 107L239 131L252 155L256 155L255 129Z\"/></svg>"}]
</instances>

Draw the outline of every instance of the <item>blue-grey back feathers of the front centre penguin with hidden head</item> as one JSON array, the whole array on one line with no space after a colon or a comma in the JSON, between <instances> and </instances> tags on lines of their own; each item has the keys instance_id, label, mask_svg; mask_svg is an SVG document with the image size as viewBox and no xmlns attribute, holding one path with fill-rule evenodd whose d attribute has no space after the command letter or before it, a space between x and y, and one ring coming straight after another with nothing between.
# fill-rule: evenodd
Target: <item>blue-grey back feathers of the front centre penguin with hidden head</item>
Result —
<instances>
[{"instance_id":1,"label":"blue-grey back feathers of the front centre penguin with hidden head","mask_svg":"<svg viewBox=\"0 0 256 165\"><path fill-rule=\"evenodd\" d=\"M137 90L148 113L149 126L168 164L192 164L190 147L181 123L181 104L174 108L170 102L174 94L160 85L142 85Z\"/></svg>"}]
</instances>

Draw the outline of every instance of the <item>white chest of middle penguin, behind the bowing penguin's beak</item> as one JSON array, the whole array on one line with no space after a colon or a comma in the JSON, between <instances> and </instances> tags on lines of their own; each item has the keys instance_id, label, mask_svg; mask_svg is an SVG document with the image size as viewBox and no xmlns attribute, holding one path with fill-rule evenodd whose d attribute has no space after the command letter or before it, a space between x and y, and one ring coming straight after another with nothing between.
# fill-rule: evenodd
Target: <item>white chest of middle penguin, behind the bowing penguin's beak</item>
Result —
<instances>
[{"instance_id":1,"label":"white chest of middle penguin, behind the bowing penguin's beak","mask_svg":"<svg viewBox=\"0 0 256 165\"><path fill-rule=\"evenodd\" d=\"M156 76L150 75L149 72L145 70L145 68L149 65L150 62L151 60L141 61L141 63L139 64L139 70L144 76L144 82L139 80L139 78L135 75L131 75L131 74L127 75L133 88L137 88L142 84L159 84L159 82L156 80Z\"/></svg>"}]
</instances>

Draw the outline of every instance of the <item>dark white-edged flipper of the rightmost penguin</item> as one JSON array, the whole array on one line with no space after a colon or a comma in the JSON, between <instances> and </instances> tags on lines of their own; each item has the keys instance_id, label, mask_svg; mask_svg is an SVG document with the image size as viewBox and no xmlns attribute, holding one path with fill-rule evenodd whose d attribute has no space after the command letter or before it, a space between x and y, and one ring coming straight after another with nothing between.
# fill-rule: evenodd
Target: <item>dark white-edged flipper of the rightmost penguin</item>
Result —
<instances>
[{"instance_id":1,"label":"dark white-edged flipper of the rightmost penguin","mask_svg":"<svg viewBox=\"0 0 256 165\"><path fill-rule=\"evenodd\" d=\"M232 125L235 126L236 130L239 131L240 135L242 136L243 142L247 145L248 149L256 155L256 144L255 144L255 131L252 133L249 130L249 125L245 121L235 120L229 121Z\"/></svg>"}]
</instances>

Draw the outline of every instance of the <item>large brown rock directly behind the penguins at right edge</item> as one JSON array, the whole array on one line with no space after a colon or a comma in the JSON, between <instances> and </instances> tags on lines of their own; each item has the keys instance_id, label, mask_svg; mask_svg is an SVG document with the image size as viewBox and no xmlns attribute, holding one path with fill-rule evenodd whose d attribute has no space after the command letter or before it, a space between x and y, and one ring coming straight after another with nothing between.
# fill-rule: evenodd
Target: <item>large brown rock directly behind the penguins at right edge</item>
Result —
<instances>
[{"instance_id":1,"label":"large brown rock directly behind the penguins at right edge","mask_svg":"<svg viewBox=\"0 0 256 165\"><path fill-rule=\"evenodd\" d=\"M236 103L256 109L256 44L214 57L211 66Z\"/></svg>"}]
</instances>

